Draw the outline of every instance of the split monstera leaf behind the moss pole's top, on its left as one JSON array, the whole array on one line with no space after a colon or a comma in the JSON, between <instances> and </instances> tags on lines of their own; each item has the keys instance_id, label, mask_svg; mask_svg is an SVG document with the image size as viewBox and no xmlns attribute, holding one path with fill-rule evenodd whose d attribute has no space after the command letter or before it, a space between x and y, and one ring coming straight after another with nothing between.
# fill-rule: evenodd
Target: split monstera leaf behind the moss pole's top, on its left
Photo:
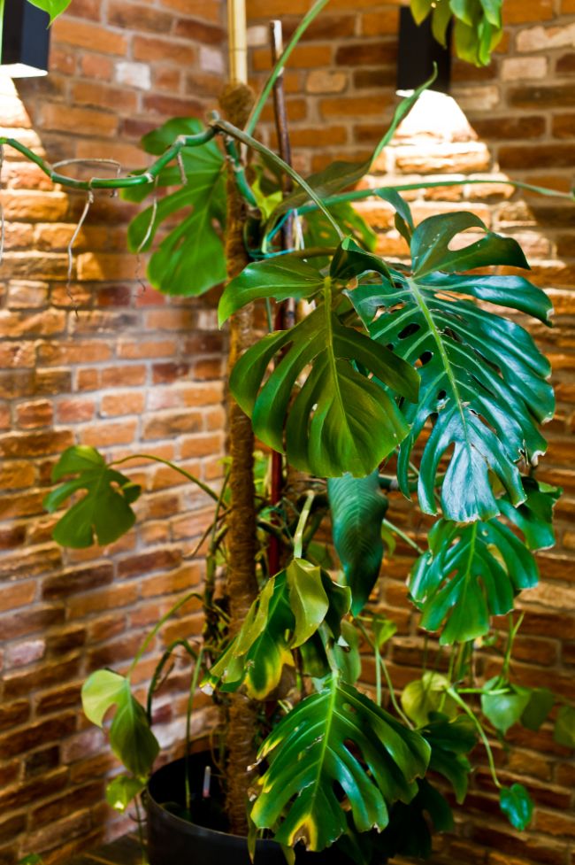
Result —
<instances>
[{"instance_id":1,"label":"split monstera leaf behind the moss pole's top, on its left","mask_svg":"<svg viewBox=\"0 0 575 865\"><path fill-rule=\"evenodd\" d=\"M203 130L199 120L176 118L144 135L142 146L155 155L163 153L178 135L196 135ZM214 142L181 153L187 178L180 186L177 166L165 168L159 187L180 186L138 214L128 228L131 251L148 251L158 228L177 214L177 225L152 252L148 265L149 282L165 294L199 295L226 279L226 259L221 232L226 224L224 159ZM149 187L139 187L126 197L142 200ZM214 228L219 225L219 230Z\"/></svg>"}]
</instances>

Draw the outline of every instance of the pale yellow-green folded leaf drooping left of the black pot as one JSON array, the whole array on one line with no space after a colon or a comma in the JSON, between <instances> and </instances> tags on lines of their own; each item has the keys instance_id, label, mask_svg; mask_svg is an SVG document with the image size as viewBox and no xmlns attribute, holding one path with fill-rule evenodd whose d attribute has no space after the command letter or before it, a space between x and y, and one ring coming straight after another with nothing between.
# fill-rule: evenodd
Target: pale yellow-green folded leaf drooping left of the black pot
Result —
<instances>
[{"instance_id":1,"label":"pale yellow-green folded leaf drooping left of the black pot","mask_svg":"<svg viewBox=\"0 0 575 865\"><path fill-rule=\"evenodd\" d=\"M84 714L98 727L103 725L104 714L116 707L110 728L111 749L130 772L145 778L160 746L143 707L132 695L130 680L112 670L96 670L82 685L81 696Z\"/></svg>"}]
</instances>

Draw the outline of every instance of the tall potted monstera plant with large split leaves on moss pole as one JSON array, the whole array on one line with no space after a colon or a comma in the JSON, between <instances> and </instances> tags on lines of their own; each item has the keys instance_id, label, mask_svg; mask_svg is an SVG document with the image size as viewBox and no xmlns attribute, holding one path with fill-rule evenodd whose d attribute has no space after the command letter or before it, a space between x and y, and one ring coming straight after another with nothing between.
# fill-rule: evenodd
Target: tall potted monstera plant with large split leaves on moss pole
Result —
<instances>
[{"instance_id":1,"label":"tall potted monstera plant with large split leaves on moss pole","mask_svg":"<svg viewBox=\"0 0 575 865\"><path fill-rule=\"evenodd\" d=\"M325 5L306 16L271 84ZM433 13L440 38L455 15L460 53L487 61L500 4L412 6L418 19ZM550 368L516 313L548 324L548 298L529 282L514 239L469 212L415 225L401 188L369 190L394 209L405 241L401 259L381 258L351 204L365 195L354 187L372 159L301 177L252 135L270 87L244 128L217 115L207 126L172 120L143 139L157 156L147 171L89 183L124 189L133 201L153 195L129 243L150 251L149 281L159 290L203 293L225 279L227 255L219 322L241 321L251 341L235 352L230 375L236 407L223 487L211 490L174 467L214 502L203 538L203 637L166 648L142 707L131 672L187 595L126 675L99 670L84 686L91 721L102 725L112 709L111 746L128 770L109 799L126 807L146 784L158 752L151 696L183 646L193 668L190 707L200 685L227 718L233 830L275 838L287 850L335 845L350 861L424 855L425 815L437 830L452 826L449 801L464 801L467 754L479 739L502 811L523 829L531 799L520 784L502 785L489 738L518 722L537 730L557 702L544 687L517 684L510 667L515 602L538 581L533 553L553 544L558 495L534 476L546 449L540 427L554 412ZM373 158L417 98L398 106ZM35 161L54 180L82 188ZM162 188L167 194L157 198ZM264 335L246 327L254 305L267 311ZM64 483L46 499L50 512L74 496L54 529L60 544L109 544L134 524L140 489L119 462L73 447L53 479ZM409 576L410 602L429 645L449 647L444 671L422 668L399 699L384 659L395 625L370 604L384 552L393 553L397 537L417 546L387 519L390 490L434 519ZM240 552L238 532L248 536ZM223 589L218 576L226 577ZM494 616L508 617L503 644ZM362 679L366 650L374 657L371 687ZM484 652L501 658L487 681L476 662ZM574 721L573 708L561 704L557 741L575 745ZM181 814L194 819L189 801Z\"/></svg>"}]
</instances>

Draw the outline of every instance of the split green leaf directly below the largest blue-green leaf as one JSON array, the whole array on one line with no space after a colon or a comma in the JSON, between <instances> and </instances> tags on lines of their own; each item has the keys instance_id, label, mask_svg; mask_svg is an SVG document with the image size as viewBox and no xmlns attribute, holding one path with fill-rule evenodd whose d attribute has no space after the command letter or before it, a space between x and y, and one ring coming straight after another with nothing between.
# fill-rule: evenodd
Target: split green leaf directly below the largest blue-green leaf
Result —
<instances>
[{"instance_id":1,"label":"split green leaf directly below the largest blue-green leaf","mask_svg":"<svg viewBox=\"0 0 575 865\"><path fill-rule=\"evenodd\" d=\"M538 582L533 553L498 520L439 520L428 541L409 585L423 614L421 627L442 628L442 645L487 634L489 617L509 613L517 592Z\"/></svg>"}]
</instances>

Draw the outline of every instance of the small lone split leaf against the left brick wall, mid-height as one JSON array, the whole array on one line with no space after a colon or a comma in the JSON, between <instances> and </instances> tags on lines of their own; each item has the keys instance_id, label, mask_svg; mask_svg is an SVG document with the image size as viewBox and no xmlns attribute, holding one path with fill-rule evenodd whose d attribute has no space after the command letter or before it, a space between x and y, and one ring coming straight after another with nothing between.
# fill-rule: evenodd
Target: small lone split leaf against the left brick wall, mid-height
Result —
<instances>
[{"instance_id":1,"label":"small lone split leaf against the left brick wall, mid-height","mask_svg":"<svg viewBox=\"0 0 575 865\"><path fill-rule=\"evenodd\" d=\"M52 537L58 544L87 547L94 543L96 536L98 544L104 546L132 528L135 514L131 505L141 488L126 475L109 468L93 447L73 445L67 448L52 469L52 480L59 481L65 475L78 476L44 498L43 506L50 514L74 492L86 490L86 495L56 523Z\"/></svg>"}]
</instances>

